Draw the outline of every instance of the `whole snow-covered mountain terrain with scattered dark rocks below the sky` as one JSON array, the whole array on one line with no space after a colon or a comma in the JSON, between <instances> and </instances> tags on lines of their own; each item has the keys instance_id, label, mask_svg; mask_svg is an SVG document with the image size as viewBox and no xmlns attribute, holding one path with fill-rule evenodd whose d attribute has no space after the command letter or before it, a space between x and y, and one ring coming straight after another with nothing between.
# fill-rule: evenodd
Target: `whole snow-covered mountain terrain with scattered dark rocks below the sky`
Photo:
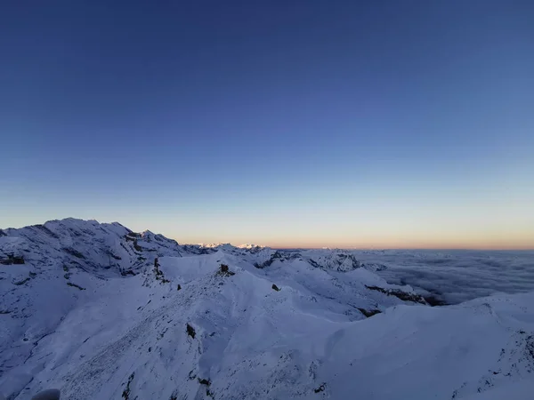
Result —
<instances>
[{"instance_id":1,"label":"whole snow-covered mountain terrain with scattered dark rocks below the sky","mask_svg":"<svg viewBox=\"0 0 534 400\"><path fill-rule=\"evenodd\" d=\"M431 307L358 252L180 245L73 219L0 230L0 261L8 399L534 393L534 292Z\"/></svg>"}]
</instances>

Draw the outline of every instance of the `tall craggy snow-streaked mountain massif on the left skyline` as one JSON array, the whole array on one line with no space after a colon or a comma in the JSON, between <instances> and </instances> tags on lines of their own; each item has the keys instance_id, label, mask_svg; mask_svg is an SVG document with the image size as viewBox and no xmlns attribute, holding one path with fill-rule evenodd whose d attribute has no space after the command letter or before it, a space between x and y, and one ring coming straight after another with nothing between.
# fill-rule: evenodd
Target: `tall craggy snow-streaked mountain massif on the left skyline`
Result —
<instances>
[{"instance_id":1,"label":"tall craggy snow-streaked mountain massif on the left skyline","mask_svg":"<svg viewBox=\"0 0 534 400\"><path fill-rule=\"evenodd\" d=\"M136 234L118 223L53 220L44 225L5 229L4 233L4 240L0 240L0 259L9 256L14 247L35 268L59 263L101 277L139 270L148 265L158 251L179 252L175 242L154 246L149 233L134 236ZM144 244L148 245L143 247Z\"/></svg>"}]
</instances>

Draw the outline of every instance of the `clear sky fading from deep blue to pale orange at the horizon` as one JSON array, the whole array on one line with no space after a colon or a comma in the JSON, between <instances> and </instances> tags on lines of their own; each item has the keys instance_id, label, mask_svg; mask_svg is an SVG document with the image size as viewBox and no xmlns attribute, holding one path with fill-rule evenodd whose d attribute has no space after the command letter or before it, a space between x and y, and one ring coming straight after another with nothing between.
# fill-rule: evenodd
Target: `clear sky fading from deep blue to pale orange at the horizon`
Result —
<instances>
[{"instance_id":1,"label":"clear sky fading from deep blue to pale orange at the horizon","mask_svg":"<svg viewBox=\"0 0 534 400\"><path fill-rule=\"evenodd\" d=\"M4 1L0 227L534 248L531 1Z\"/></svg>"}]
</instances>

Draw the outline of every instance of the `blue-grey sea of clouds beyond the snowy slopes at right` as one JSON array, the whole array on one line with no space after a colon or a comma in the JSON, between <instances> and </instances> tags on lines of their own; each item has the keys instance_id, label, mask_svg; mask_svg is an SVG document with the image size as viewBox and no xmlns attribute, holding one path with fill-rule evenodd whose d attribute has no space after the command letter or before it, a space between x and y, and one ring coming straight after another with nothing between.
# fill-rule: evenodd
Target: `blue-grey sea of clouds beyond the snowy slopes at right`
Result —
<instances>
[{"instance_id":1,"label":"blue-grey sea of clouds beyond the snowy slopes at right","mask_svg":"<svg viewBox=\"0 0 534 400\"><path fill-rule=\"evenodd\" d=\"M534 251L358 251L378 274L449 304L498 292L534 291Z\"/></svg>"}]
</instances>

